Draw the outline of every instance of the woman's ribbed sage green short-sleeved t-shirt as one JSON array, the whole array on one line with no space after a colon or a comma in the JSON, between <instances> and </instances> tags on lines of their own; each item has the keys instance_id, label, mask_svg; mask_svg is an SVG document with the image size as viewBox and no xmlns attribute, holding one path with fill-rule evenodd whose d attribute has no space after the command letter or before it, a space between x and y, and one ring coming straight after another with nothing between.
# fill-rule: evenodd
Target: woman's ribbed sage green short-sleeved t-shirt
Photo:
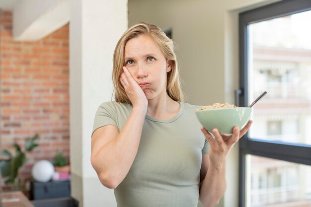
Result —
<instances>
[{"instance_id":1,"label":"woman's ribbed sage green short-sleeved t-shirt","mask_svg":"<svg viewBox=\"0 0 311 207\"><path fill-rule=\"evenodd\" d=\"M209 143L195 115L201 106L179 103L179 112L169 120L146 115L132 167L114 189L118 207L197 207L202 154ZM102 103L93 132L105 125L121 131L131 111L130 104Z\"/></svg>"}]
</instances>

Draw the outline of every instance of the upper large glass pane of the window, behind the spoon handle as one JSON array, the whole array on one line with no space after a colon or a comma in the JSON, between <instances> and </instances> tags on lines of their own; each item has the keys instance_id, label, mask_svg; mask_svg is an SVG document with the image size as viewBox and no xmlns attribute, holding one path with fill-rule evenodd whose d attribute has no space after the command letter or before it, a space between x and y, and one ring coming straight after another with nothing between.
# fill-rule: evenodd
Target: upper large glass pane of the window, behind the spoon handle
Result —
<instances>
[{"instance_id":1,"label":"upper large glass pane of the window, behind the spoon handle","mask_svg":"<svg viewBox=\"0 0 311 207\"><path fill-rule=\"evenodd\" d=\"M248 26L250 138L311 144L311 11Z\"/></svg>"}]
</instances>

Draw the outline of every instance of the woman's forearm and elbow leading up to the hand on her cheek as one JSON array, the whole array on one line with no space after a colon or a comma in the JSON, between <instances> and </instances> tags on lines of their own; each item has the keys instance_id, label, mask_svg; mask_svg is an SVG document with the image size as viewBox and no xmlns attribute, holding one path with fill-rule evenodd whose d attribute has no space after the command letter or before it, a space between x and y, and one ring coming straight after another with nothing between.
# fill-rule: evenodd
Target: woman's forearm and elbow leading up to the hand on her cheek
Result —
<instances>
[{"instance_id":1,"label":"woman's forearm and elbow leading up to the hand on her cheek","mask_svg":"<svg viewBox=\"0 0 311 207\"><path fill-rule=\"evenodd\" d=\"M121 132L92 157L103 185L116 188L129 172L138 151L146 112L133 108Z\"/></svg>"}]
</instances>

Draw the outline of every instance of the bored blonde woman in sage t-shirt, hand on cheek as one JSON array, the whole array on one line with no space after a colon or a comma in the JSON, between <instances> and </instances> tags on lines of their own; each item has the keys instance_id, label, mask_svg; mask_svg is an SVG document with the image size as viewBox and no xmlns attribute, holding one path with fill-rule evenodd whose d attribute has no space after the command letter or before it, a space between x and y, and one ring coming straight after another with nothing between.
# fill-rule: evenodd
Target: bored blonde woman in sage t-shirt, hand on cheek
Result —
<instances>
[{"instance_id":1,"label":"bored blonde woman in sage t-shirt, hand on cheek","mask_svg":"<svg viewBox=\"0 0 311 207\"><path fill-rule=\"evenodd\" d=\"M156 25L129 28L113 56L116 102L95 116L91 162L114 189L118 207L214 207L226 190L226 155L251 122L232 136L201 128L182 102L173 42Z\"/></svg>"}]
</instances>

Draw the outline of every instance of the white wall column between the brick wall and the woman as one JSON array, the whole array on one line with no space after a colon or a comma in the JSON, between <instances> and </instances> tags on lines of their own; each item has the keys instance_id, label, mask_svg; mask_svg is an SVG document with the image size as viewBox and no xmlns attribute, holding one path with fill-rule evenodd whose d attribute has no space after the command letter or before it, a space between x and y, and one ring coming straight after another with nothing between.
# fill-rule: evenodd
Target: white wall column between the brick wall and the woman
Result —
<instances>
[{"instance_id":1,"label":"white wall column between the brick wall and the woman","mask_svg":"<svg viewBox=\"0 0 311 207\"><path fill-rule=\"evenodd\" d=\"M127 29L127 0L71 0L70 161L72 196L80 207L116 207L113 190L104 187L91 166L95 112L111 101L112 56Z\"/></svg>"}]
</instances>

